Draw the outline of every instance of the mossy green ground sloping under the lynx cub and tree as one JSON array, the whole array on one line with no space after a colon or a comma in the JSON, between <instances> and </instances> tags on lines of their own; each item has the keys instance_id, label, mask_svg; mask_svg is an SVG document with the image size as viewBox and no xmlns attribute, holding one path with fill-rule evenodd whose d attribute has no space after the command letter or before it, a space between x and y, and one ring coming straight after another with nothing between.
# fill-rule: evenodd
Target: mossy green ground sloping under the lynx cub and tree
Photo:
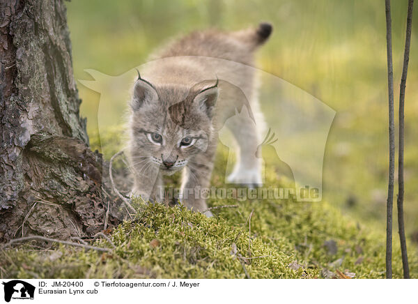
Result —
<instances>
[{"instance_id":1,"label":"mossy green ground sloping under the lynx cub and tree","mask_svg":"<svg viewBox=\"0 0 418 304\"><path fill-rule=\"evenodd\" d=\"M267 185L291 183L277 181L268 155L265 161ZM223 186L225 165L226 151L221 148L212 185ZM215 217L206 218L183 206L137 199L137 216L109 234L116 245L111 252L63 245L36 250L26 243L0 252L1 278L339 278L338 271L355 273L355 278L385 278L385 231L347 218L327 202L208 203L238 207L212 210ZM104 239L94 245L111 248ZM401 278L396 239L393 264L394 278ZM412 278L418 278L413 250L410 269Z\"/></svg>"}]
</instances>

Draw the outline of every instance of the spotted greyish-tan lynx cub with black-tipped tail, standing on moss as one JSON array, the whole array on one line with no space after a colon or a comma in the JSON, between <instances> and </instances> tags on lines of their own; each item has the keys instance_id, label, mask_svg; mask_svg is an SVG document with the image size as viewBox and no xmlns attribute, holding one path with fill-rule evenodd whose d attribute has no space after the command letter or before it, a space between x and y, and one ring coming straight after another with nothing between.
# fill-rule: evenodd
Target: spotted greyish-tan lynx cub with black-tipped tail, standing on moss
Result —
<instances>
[{"instance_id":1,"label":"spotted greyish-tan lynx cub with black-tipped tail, standing on moss","mask_svg":"<svg viewBox=\"0 0 418 304\"><path fill-rule=\"evenodd\" d=\"M206 200L196 193L210 186L218 131L234 109L246 102L249 115L227 125L239 147L238 162L228 180L261 183L255 121L262 126L263 117L254 69L249 66L254 65L254 51L271 31L270 24L262 23L256 29L228 33L194 32L171 43L148 69L141 70L130 114L133 195L162 202L162 175L183 170L182 189L187 193L183 204L205 211ZM222 75L228 75L228 81ZM212 213L206 211L206 215Z\"/></svg>"}]
</instances>

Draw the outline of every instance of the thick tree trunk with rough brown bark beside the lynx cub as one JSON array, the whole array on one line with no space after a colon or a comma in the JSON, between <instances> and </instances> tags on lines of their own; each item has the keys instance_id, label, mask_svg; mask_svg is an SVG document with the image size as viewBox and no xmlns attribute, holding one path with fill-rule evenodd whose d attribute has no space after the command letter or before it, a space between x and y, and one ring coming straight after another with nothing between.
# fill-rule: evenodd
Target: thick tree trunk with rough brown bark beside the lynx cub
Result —
<instances>
[{"instance_id":1,"label":"thick tree trunk with rough brown bark beside the lynx cub","mask_svg":"<svg viewBox=\"0 0 418 304\"><path fill-rule=\"evenodd\" d=\"M79 116L65 13L59 0L1 0L0 241L104 227L102 156Z\"/></svg>"}]
</instances>

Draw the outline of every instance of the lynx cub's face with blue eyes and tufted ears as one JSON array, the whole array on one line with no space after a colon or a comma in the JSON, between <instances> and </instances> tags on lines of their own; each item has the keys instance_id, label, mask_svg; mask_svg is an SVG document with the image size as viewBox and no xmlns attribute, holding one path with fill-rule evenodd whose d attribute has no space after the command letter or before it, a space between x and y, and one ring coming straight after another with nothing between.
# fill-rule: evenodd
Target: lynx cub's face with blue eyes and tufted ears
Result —
<instances>
[{"instance_id":1,"label":"lynx cub's face with blue eyes and tufted ears","mask_svg":"<svg viewBox=\"0 0 418 304\"><path fill-rule=\"evenodd\" d=\"M147 176L154 168L171 175L204 153L212 135L217 96L213 81L192 88L155 87L139 77L130 119L134 171Z\"/></svg>"}]
</instances>

